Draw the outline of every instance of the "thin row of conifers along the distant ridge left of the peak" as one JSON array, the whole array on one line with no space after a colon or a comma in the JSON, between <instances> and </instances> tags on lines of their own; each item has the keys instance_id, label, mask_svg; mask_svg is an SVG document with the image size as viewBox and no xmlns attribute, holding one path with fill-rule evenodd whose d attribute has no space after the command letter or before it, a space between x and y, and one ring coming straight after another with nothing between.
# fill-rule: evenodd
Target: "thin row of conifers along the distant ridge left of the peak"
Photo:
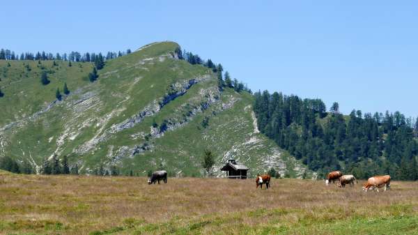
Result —
<instances>
[{"instance_id":1,"label":"thin row of conifers along the distant ridge left of the peak","mask_svg":"<svg viewBox=\"0 0 418 235\"><path fill-rule=\"evenodd\" d=\"M50 52L26 52L20 54L15 54L15 52L5 49L0 49L0 59L6 59L8 61L14 60L29 60L29 61L72 61L72 62L95 62L97 56L102 56L104 60L115 59L117 57L124 56L126 54L130 54L132 51L130 49L124 52L107 52L106 56L102 56L102 53L89 53L86 52L81 54L80 52L70 52L64 54L52 54Z\"/></svg>"}]
</instances>

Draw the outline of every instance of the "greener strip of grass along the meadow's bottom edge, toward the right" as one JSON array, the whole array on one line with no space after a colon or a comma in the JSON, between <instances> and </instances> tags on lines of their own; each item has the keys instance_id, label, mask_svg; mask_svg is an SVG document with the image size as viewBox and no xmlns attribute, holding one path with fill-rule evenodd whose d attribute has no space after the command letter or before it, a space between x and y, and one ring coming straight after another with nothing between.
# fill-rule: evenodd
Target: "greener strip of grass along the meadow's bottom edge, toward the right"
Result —
<instances>
[{"instance_id":1,"label":"greener strip of grass along the meadow's bottom edge, toward the right","mask_svg":"<svg viewBox=\"0 0 418 235\"><path fill-rule=\"evenodd\" d=\"M401 211L402 212L402 211ZM399 212L399 213L401 213ZM408 213L387 217L307 213L303 210L268 209L206 215L203 218L173 218L168 222L146 224L131 220L124 226L90 234L417 234L418 215ZM327 217L330 216L330 217ZM289 219L291 218L291 219Z\"/></svg>"}]
</instances>

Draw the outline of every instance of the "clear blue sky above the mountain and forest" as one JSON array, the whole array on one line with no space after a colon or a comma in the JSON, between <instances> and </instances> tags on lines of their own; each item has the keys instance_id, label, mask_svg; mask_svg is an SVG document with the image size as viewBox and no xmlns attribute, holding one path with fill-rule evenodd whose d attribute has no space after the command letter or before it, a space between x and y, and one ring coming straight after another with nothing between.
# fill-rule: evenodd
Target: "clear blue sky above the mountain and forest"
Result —
<instances>
[{"instance_id":1,"label":"clear blue sky above the mountain and forest","mask_svg":"<svg viewBox=\"0 0 418 235\"><path fill-rule=\"evenodd\" d=\"M173 40L253 91L418 116L417 1L63 2L2 1L0 47L107 52Z\"/></svg>"}]
</instances>

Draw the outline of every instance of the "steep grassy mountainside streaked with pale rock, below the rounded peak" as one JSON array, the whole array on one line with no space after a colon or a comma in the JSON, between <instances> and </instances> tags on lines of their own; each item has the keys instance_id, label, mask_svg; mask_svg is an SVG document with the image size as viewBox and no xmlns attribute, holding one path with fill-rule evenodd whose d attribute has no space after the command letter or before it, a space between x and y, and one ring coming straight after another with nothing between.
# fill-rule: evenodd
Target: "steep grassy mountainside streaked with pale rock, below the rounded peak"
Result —
<instances>
[{"instance_id":1,"label":"steep grassy mountainside streaked with pale rock, below the rounded peak","mask_svg":"<svg viewBox=\"0 0 418 235\"><path fill-rule=\"evenodd\" d=\"M97 82L79 82L62 101L1 126L0 156L40 165L66 155L85 173L116 165L146 174L162 165L199 176L210 149L218 176L228 158L249 166L250 176L270 168L302 176L306 167L259 132L252 96L219 91L217 75L179 60L177 46L153 43L107 61Z\"/></svg>"}]
</instances>

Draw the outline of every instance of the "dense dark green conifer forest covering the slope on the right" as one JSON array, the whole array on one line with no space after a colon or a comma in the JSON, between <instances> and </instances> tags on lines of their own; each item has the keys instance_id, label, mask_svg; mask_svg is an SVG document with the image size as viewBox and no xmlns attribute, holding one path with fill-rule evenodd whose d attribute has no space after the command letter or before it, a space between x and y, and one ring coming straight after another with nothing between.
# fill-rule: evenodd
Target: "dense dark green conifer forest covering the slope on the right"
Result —
<instances>
[{"instance_id":1,"label":"dense dark green conifer forest covering the slope on the right","mask_svg":"<svg viewBox=\"0 0 418 235\"><path fill-rule=\"evenodd\" d=\"M258 128L281 148L325 176L332 170L366 179L390 174L394 179L417 180L418 120L394 114L348 116L334 103L330 112L319 99L254 93Z\"/></svg>"}]
</instances>

